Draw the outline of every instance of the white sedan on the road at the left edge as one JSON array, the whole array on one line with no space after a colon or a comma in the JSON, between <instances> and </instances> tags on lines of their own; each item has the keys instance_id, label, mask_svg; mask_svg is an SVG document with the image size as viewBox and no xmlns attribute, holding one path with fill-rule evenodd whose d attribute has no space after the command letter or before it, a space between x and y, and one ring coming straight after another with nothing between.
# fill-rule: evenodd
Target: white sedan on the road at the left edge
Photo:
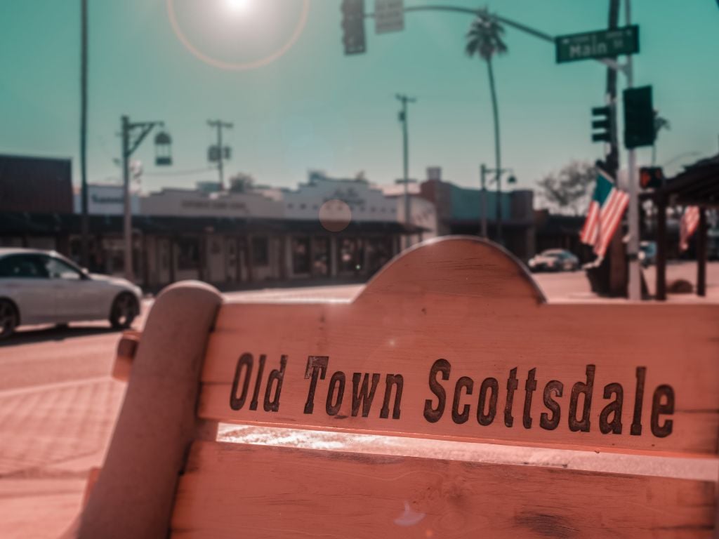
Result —
<instances>
[{"instance_id":1,"label":"white sedan on the road at the left edge","mask_svg":"<svg viewBox=\"0 0 719 539\"><path fill-rule=\"evenodd\" d=\"M109 320L127 328L141 298L131 282L88 273L56 252L0 248L0 339L24 324Z\"/></svg>"}]
</instances>

